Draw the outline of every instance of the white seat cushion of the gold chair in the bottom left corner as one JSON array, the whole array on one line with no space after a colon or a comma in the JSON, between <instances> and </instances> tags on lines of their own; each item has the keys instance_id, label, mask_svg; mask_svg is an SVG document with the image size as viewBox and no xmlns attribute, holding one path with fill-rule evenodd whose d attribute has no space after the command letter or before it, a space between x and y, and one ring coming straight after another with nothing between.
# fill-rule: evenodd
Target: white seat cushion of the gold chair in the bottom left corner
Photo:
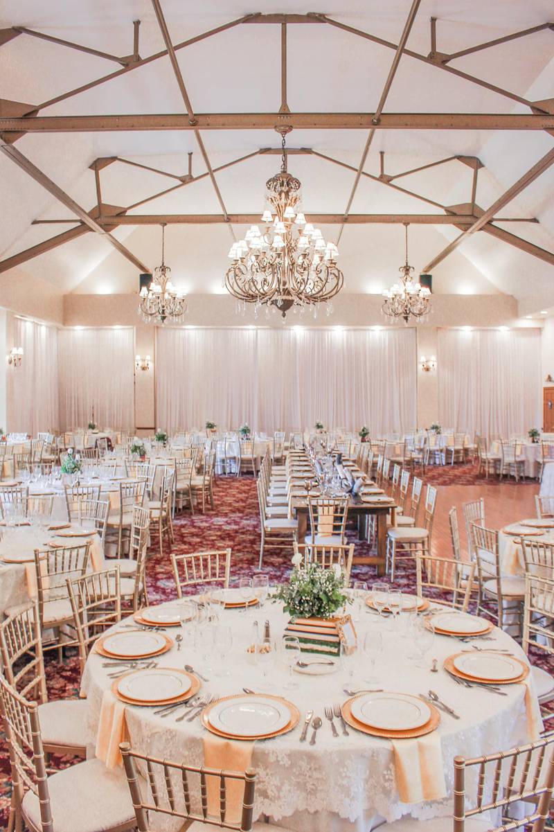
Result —
<instances>
[{"instance_id":1,"label":"white seat cushion of the gold chair in the bottom left corner","mask_svg":"<svg viewBox=\"0 0 554 832\"><path fill-rule=\"evenodd\" d=\"M108 770L101 760L86 760L48 777L54 832L103 832L136 824L129 786L122 769ZM37 795L22 801L23 814L42 829Z\"/></svg>"}]
</instances>

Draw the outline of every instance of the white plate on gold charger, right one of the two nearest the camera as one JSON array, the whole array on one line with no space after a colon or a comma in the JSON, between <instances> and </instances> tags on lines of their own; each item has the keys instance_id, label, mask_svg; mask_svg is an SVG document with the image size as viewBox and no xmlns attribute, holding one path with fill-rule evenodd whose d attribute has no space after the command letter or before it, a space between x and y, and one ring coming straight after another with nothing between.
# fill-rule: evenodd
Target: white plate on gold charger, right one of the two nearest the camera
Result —
<instances>
[{"instance_id":1,"label":"white plate on gold charger, right one of the two nearest the camera","mask_svg":"<svg viewBox=\"0 0 554 832\"><path fill-rule=\"evenodd\" d=\"M404 693L370 693L352 702L352 716L364 725L381 730L412 730L431 719L431 709Z\"/></svg>"}]
</instances>

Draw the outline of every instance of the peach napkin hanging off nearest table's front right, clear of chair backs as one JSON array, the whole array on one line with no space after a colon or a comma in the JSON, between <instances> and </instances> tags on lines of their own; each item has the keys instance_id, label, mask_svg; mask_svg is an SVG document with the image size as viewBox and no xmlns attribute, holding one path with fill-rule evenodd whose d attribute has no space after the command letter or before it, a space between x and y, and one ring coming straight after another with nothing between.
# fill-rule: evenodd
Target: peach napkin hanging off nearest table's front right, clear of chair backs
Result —
<instances>
[{"instance_id":1,"label":"peach napkin hanging off nearest table's front right, clear of chair backs","mask_svg":"<svg viewBox=\"0 0 554 832\"><path fill-rule=\"evenodd\" d=\"M413 740L392 740L392 743L400 800L421 803L446 797L443 752L437 731Z\"/></svg>"}]
</instances>

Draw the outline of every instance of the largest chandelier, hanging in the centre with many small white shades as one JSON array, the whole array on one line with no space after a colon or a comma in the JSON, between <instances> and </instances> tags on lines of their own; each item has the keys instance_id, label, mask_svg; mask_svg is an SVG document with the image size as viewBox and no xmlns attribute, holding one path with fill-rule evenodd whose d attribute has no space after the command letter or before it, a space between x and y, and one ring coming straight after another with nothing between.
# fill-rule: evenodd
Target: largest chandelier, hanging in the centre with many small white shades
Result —
<instances>
[{"instance_id":1,"label":"largest chandelier, hanging in the centre with many small white shades","mask_svg":"<svg viewBox=\"0 0 554 832\"><path fill-rule=\"evenodd\" d=\"M261 217L265 229L260 231L258 225L251 225L245 240L231 245L232 263L223 280L224 288L239 302L237 311L244 312L246 304L254 304L256 317L262 305L266 316L273 307L283 319L291 307L299 309L300 314L313 309L315 318L321 303L330 314L331 300L344 284L336 263L337 246L325 243L321 231L306 222L298 210L301 185L287 172L284 149L284 136L290 129L278 129L282 139L281 170L265 183L271 208Z\"/></svg>"}]
</instances>

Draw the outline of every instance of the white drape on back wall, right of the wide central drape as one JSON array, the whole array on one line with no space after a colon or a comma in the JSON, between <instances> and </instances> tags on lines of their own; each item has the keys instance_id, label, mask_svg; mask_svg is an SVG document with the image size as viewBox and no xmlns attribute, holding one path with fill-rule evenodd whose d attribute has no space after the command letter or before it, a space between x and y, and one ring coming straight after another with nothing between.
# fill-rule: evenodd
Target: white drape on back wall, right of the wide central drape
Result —
<instances>
[{"instance_id":1,"label":"white drape on back wall, right of the wide central drape","mask_svg":"<svg viewBox=\"0 0 554 832\"><path fill-rule=\"evenodd\" d=\"M438 420L445 428L527 433L542 426L540 329L439 329Z\"/></svg>"}]
</instances>

